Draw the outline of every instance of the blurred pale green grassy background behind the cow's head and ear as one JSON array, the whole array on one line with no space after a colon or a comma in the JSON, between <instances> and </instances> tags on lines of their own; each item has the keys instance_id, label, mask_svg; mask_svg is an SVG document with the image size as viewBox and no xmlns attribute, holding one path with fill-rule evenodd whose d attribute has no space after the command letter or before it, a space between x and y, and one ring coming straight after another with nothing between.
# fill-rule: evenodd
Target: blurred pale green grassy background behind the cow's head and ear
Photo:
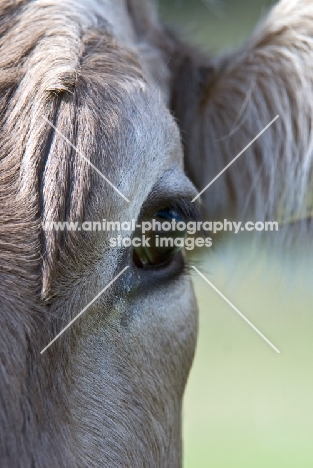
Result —
<instances>
[{"instance_id":1,"label":"blurred pale green grassy background behind the cow's head and ear","mask_svg":"<svg viewBox=\"0 0 313 468\"><path fill-rule=\"evenodd\" d=\"M271 4L159 3L168 24L212 53L240 45ZM184 403L184 467L312 468L312 242L282 254L230 237L201 255L198 268L281 353L194 276L200 333Z\"/></svg>"}]
</instances>

